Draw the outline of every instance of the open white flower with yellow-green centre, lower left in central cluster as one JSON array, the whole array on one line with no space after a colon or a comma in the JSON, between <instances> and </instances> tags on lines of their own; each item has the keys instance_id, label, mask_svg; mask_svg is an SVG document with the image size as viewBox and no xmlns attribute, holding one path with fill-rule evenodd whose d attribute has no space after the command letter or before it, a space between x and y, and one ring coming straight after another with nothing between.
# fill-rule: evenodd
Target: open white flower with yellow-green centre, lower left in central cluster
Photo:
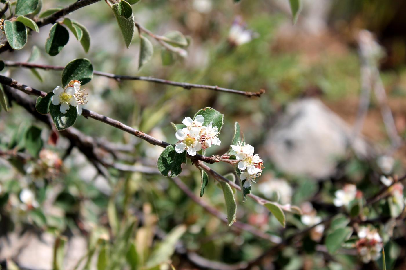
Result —
<instances>
[{"instance_id":1,"label":"open white flower with yellow-green centre, lower left in central cluster","mask_svg":"<svg viewBox=\"0 0 406 270\"><path fill-rule=\"evenodd\" d=\"M190 129L178 129L175 133L175 137L179 140L175 145L175 151L179 154L186 150L190 156L194 156L197 151L202 149L202 145L199 141L200 130L195 126Z\"/></svg>"}]
</instances>

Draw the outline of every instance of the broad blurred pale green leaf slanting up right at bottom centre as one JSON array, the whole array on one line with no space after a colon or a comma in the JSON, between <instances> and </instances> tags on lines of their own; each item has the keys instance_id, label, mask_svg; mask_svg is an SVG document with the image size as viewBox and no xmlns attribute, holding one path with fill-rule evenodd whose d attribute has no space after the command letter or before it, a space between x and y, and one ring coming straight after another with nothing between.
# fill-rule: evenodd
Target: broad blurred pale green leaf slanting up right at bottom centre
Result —
<instances>
[{"instance_id":1,"label":"broad blurred pale green leaf slanting up right at bottom centre","mask_svg":"<svg viewBox=\"0 0 406 270\"><path fill-rule=\"evenodd\" d=\"M175 252L175 247L177 241L186 232L185 225L178 225L166 236L166 238L158 245L154 251L152 251L151 256L149 256L146 268L151 268L159 264L168 262L173 253Z\"/></svg>"}]
</instances>

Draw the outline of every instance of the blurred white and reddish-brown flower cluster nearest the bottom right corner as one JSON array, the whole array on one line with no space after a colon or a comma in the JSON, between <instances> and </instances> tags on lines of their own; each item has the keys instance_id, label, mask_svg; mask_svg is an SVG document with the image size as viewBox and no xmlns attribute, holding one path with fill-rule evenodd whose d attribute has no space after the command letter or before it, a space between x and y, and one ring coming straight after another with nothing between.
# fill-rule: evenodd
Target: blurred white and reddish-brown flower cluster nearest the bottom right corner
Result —
<instances>
[{"instance_id":1,"label":"blurred white and reddish-brown flower cluster nearest the bottom right corner","mask_svg":"<svg viewBox=\"0 0 406 270\"><path fill-rule=\"evenodd\" d=\"M376 229L361 227L358 231L358 238L356 248L364 264L369 263L371 260L375 261L380 257L382 238Z\"/></svg>"}]
</instances>

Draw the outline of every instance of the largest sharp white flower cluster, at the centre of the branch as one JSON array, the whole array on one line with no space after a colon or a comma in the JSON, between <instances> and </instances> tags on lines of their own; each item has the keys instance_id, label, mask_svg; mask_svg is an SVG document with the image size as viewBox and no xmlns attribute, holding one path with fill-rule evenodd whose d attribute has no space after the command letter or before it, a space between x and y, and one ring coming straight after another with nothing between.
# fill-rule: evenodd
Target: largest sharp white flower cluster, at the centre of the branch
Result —
<instances>
[{"instance_id":1,"label":"largest sharp white flower cluster, at the centre of the branch","mask_svg":"<svg viewBox=\"0 0 406 270\"><path fill-rule=\"evenodd\" d=\"M177 153L183 153L185 150L190 156L196 155L197 151L201 149L207 149L212 144L220 145L221 141L218 139L218 127L213 127L213 122L210 122L207 126L203 126L204 117L200 114L192 120L190 117L186 117L182 124L186 127L178 129L175 133L176 139L179 141L175 145L175 151Z\"/></svg>"}]
</instances>

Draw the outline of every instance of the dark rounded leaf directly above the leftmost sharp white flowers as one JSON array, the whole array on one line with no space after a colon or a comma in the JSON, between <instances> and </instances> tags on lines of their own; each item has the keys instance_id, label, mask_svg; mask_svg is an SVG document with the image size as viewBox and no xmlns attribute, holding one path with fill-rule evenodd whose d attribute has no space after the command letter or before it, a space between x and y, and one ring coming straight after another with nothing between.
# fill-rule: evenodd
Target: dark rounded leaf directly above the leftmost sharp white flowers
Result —
<instances>
[{"instance_id":1,"label":"dark rounded leaf directly above the leftmost sharp white flowers","mask_svg":"<svg viewBox=\"0 0 406 270\"><path fill-rule=\"evenodd\" d=\"M62 84L67 86L70 81L81 81L87 84L93 78L92 63L86 58L78 58L69 62L62 71Z\"/></svg>"}]
</instances>

